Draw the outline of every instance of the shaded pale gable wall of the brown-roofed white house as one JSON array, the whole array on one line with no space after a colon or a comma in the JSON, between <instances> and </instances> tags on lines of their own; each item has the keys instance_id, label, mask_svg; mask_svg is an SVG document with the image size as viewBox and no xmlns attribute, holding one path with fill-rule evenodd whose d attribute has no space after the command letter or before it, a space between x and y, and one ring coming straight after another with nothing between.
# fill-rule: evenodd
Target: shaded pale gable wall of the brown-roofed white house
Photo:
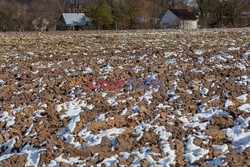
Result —
<instances>
[{"instance_id":1,"label":"shaded pale gable wall of the brown-roofed white house","mask_svg":"<svg viewBox=\"0 0 250 167\"><path fill-rule=\"evenodd\" d=\"M161 29L173 28L179 26L179 18L168 10L160 21Z\"/></svg>"}]
</instances>

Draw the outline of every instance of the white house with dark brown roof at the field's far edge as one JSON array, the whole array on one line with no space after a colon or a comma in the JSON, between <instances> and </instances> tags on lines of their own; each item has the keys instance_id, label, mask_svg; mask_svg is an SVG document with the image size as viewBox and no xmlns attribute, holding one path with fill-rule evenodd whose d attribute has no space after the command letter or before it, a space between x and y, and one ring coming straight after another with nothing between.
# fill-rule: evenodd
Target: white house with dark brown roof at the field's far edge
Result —
<instances>
[{"instance_id":1,"label":"white house with dark brown roof at the field's far edge","mask_svg":"<svg viewBox=\"0 0 250 167\"><path fill-rule=\"evenodd\" d=\"M195 13L188 9L169 9L160 21L161 29L181 28L197 29L198 19Z\"/></svg>"}]
</instances>

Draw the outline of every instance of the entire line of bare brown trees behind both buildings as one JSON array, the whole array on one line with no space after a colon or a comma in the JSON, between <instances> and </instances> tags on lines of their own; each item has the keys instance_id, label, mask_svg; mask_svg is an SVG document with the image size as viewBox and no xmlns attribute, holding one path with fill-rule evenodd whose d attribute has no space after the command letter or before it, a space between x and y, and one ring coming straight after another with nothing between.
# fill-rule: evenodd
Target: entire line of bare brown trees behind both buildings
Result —
<instances>
[{"instance_id":1,"label":"entire line of bare brown trees behind both buildings","mask_svg":"<svg viewBox=\"0 0 250 167\"><path fill-rule=\"evenodd\" d=\"M0 31L54 29L62 12L83 12L92 29L159 28L169 8L196 8L202 27L236 25L250 0L0 0ZM190 7L192 5L192 7Z\"/></svg>"}]
</instances>

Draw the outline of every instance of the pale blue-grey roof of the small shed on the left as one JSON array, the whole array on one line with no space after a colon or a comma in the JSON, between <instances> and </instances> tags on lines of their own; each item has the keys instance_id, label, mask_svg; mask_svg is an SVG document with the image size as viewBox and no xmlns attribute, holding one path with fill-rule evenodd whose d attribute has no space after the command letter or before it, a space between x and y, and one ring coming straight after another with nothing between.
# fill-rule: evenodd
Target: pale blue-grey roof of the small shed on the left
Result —
<instances>
[{"instance_id":1,"label":"pale blue-grey roof of the small shed on the left","mask_svg":"<svg viewBox=\"0 0 250 167\"><path fill-rule=\"evenodd\" d=\"M62 16L66 25L84 26L90 19L84 13L63 13Z\"/></svg>"}]
</instances>

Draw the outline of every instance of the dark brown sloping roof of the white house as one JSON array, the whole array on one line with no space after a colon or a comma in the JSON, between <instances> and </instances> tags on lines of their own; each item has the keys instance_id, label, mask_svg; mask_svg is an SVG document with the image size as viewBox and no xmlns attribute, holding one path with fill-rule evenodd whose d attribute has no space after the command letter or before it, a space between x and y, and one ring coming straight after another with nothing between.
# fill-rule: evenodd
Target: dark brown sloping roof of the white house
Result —
<instances>
[{"instance_id":1,"label":"dark brown sloping roof of the white house","mask_svg":"<svg viewBox=\"0 0 250 167\"><path fill-rule=\"evenodd\" d=\"M169 9L174 15L183 19L183 20L197 20L194 12L189 11L188 9Z\"/></svg>"}]
</instances>

